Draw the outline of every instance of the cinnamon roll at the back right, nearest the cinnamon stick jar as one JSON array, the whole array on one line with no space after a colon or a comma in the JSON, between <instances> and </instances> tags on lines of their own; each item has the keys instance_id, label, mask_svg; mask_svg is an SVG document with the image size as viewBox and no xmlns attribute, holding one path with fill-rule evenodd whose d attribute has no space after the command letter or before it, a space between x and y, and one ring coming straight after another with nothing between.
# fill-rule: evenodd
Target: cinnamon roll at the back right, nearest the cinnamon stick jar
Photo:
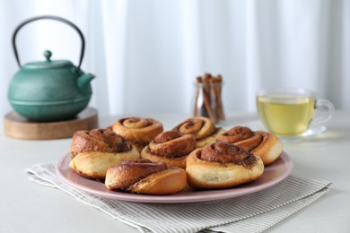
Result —
<instances>
[{"instance_id":1,"label":"cinnamon roll at the back right, nearest the cinnamon stick jar","mask_svg":"<svg viewBox=\"0 0 350 233\"><path fill-rule=\"evenodd\" d=\"M180 134L194 135L197 148L214 143L216 137L224 132L223 128L216 127L211 119L204 116L188 118L177 125L173 130L179 131Z\"/></svg>"}]
</instances>

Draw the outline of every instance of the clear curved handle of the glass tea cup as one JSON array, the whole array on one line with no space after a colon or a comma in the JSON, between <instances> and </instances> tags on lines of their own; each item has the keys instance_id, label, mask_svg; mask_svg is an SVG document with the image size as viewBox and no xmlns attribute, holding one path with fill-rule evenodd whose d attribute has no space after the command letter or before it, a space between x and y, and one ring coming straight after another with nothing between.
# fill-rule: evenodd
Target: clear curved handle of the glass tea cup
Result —
<instances>
[{"instance_id":1,"label":"clear curved handle of the glass tea cup","mask_svg":"<svg viewBox=\"0 0 350 233\"><path fill-rule=\"evenodd\" d=\"M320 112L321 109L323 109L322 112ZM317 99L315 105L315 117L312 119L311 125L320 125L328 122L328 120L332 118L334 110L334 105L328 99Z\"/></svg>"}]
</instances>

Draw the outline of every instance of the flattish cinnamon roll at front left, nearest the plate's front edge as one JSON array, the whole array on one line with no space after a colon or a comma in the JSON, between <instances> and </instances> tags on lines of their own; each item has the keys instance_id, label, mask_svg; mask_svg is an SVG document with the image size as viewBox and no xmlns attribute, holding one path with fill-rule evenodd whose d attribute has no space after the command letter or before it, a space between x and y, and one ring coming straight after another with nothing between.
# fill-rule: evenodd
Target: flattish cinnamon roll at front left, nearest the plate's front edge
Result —
<instances>
[{"instance_id":1,"label":"flattish cinnamon roll at front left, nearest the plate's front edge","mask_svg":"<svg viewBox=\"0 0 350 233\"><path fill-rule=\"evenodd\" d=\"M187 186L186 171L163 162L139 159L107 170L105 185L137 194L176 194Z\"/></svg>"}]
</instances>

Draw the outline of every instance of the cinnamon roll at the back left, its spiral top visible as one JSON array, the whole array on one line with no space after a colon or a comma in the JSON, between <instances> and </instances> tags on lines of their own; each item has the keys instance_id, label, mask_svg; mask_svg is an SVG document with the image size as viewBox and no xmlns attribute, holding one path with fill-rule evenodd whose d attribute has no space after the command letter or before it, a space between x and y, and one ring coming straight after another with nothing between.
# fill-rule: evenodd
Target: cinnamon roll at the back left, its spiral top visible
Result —
<instances>
[{"instance_id":1,"label":"cinnamon roll at the back left, its spiral top visible","mask_svg":"<svg viewBox=\"0 0 350 233\"><path fill-rule=\"evenodd\" d=\"M162 133L163 126L152 118L127 117L119 119L111 125L111 129L127 138L127 141L136 146L137 151L142 151L156 135Z\"/></svg>"}]
</instances>

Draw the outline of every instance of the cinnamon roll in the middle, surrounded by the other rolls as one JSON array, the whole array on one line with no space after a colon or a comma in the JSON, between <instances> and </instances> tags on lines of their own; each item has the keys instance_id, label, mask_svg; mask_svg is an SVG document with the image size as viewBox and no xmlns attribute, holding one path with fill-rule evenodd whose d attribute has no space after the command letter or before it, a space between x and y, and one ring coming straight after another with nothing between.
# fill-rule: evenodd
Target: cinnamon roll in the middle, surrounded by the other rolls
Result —
<instances>
[{"instance_id":1,"label":"cinnamon roll in the middle, surrounded by the other rolls","mask_svg":"<svg viewBox=\"0 0 350 233\"><path fill-rule=\"evenodd\" d=\"M195 149L196 141L193 135L181 135L178 131L171 130L158 134L148 146L144 147L141 158L186 168L188 154Z\"/></svg>"}]
</instances>

